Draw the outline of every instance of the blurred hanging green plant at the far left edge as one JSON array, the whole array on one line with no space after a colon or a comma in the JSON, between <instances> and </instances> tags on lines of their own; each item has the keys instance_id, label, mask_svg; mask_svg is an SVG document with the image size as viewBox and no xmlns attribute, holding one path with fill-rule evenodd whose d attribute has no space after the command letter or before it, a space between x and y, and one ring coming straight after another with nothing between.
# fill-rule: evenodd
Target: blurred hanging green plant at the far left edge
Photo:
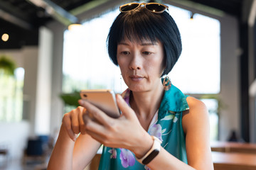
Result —
<instances>
[{"instance_id":1,"label":"blurred hanging green plant at the far left edge","mask_svg":"<svg viewBox=\"0 0 256 170\"><path fill-rule=\"evenodd\" d=\"M0 57L0 71L4 74L14 76L14 70L16 69L16 64L13 60L9 59L5 55Z\"/></svg>"}]
</instances>

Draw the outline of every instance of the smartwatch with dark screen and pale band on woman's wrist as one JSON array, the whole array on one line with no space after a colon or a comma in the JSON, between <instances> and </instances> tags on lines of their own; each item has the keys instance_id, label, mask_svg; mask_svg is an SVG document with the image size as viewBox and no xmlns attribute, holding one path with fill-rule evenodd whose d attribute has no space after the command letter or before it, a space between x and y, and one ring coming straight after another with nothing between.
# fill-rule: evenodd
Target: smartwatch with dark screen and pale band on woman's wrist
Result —
<instances>
[{"instance_id":1,"label":"smartwatch with dark screen and pale band on woman's wrist","mask_svg":"<svg viewBox=\"0 0 256 170\"><path fill-rule=\"evenodd\" d=\"M141 164L149 164L149 162L151 162L156 157L156 155L159 154L160 152L161 140L159 140L155 136L151 136L151 137L154 140L153 146L151 147L151 149L149 149L148 152L146 152L144 157L142 157L141 159L137 159L137 161Z\"/></svg>"}]
</instances>

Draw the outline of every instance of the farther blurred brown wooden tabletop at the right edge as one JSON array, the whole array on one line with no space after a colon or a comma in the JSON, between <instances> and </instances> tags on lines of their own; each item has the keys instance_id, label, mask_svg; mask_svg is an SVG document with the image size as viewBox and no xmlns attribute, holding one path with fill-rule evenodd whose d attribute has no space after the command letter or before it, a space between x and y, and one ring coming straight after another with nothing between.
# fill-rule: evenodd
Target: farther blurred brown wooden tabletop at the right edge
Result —
<instances>
[{"instance_id":1,"label":"farther blurred brown wooden tabletop at the right edge","mask_svg":"<svg viewBox=\"0 0 256 170\"><path fill-rule=\"evenodd\" d=\"M212 151L256 154L256 144L241 142L211 142Z\"/></svg>"}]
</instances>

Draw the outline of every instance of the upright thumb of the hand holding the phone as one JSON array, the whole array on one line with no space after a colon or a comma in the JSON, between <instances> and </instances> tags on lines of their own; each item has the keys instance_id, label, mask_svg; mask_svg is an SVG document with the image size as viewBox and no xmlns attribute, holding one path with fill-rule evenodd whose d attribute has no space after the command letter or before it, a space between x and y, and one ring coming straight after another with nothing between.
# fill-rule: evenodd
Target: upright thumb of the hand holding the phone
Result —
<instances>
[{"instance_id":1,"label":"upright thumb of the hand holding the phone","mask_svg":"<svg viewBox=\"0 0 256 170\"><path fill-rule=\"evenodd\" d=\"M128 104L124 101L124 98L122 98L121 95L116 94L117 98L117 106L119 107L120 111L122 111L122 115L126 118L133 118L135 115L132 108L128 106Z\"/></svg>"}]
</instances>

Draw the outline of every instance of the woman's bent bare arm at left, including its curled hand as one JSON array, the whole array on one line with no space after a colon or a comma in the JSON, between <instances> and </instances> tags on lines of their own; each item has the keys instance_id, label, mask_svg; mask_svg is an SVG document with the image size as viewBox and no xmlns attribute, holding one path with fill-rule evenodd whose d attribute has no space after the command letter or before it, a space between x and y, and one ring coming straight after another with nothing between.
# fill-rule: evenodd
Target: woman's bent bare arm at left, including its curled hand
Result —
<instances>
[{"instance_id":1,"label":"woman's bent bare arm at left, including its curled hand","mask_svg":"<svg viewBox=\"0 0 256 170\"><path fill-rule=\"evenodd\" d=\"M50 156L48 169L84 169L95 156L100 143L93 140L82 130L82 107L79 107L63 117L58 140ZM80 128L81 130L80 130ZM75 134L79 135L75 140Z\"/></svg>"}]
</instances>

